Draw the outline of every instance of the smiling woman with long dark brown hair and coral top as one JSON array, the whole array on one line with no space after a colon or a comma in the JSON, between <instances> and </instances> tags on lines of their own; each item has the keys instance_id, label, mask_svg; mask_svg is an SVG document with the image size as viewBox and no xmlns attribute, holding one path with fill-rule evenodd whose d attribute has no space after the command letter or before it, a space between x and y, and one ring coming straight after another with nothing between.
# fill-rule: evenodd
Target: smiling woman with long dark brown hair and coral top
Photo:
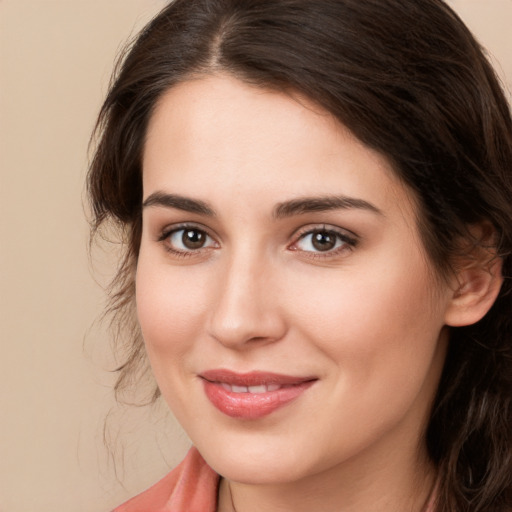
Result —
<instances>
[{"instance_id":1,"label":"smiling woman with long dark brown hair and coral top","mask_svg":"<svg viewBox=\"0 0 512 512\"><path fill-rule=\"evenodd\" d=\"M512 510L512 122L447 5L176 0L98 134L118 390L194 444L118 511Z\"/></svg>"}]
</instances>

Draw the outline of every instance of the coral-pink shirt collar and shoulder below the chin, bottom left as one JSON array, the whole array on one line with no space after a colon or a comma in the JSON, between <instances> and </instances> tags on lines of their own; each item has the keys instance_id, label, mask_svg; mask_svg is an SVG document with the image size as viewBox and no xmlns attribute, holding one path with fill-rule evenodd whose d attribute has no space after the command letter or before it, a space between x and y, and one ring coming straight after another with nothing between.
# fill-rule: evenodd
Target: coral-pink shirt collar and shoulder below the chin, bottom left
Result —
<instances>
[{"instance_id":1,"label":"coral-pink shirt collar and shoulder below the chin, bottom left","mask_svg":"<svg viewBox=\"0 0 512 512\"><path fill-rule=\"evenodd\" d=\"M192 447L179 466L113 512L215 512L219 475Z\"/></svg>"}]
</instances>

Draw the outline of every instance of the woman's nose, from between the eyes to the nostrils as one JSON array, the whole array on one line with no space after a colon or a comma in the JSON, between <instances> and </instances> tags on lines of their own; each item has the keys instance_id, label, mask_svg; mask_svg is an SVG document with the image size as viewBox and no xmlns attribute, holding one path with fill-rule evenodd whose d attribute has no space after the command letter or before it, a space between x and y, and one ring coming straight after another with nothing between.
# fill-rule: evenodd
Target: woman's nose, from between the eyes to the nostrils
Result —
<instances>
[{"instance_id":1,"label":"woman's nose, from between the eyes to the nostrils","mask_svg":"<svg viewBox=\"0 0 512 512\"><path fill-rule=\"evenodd\" d=\"M287 327L278 281L271 265L250 257L232 258L217 276L210 335L237 350L280 340Z\"/></svg>"}]
</instances>

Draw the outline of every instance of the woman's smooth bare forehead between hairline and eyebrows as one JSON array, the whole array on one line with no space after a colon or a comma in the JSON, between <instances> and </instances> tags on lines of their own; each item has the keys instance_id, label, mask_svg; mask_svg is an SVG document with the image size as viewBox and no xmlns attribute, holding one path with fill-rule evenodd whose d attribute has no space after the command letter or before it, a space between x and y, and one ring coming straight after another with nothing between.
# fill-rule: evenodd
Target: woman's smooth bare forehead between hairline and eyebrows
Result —
<instances>
[{"instance_id":1,"label":"woman's smooth bare forehead between hairline and eyebrows","mask_svg":"<svg viewBox=\"0 0 512 512\"><path fill-rule=\"evenodd\" d=\"M223 205L344 194L407 210L412 199L389 161L328 112L226 75L162 96L148 126L143 182L145 197L193 192Z\"/></svg>"}]
</instances>

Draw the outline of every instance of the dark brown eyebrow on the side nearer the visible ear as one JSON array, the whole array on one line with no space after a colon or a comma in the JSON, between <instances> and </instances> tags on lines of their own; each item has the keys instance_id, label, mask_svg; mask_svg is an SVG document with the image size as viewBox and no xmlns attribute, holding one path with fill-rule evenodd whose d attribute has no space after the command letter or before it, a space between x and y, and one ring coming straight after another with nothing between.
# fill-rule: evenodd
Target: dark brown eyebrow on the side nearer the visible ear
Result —
<instances>
[{"instance_id":1,"label":"dark brown eyebrow on the side nearer the visible ear","mask_svg":"<svg viewBox=\"0 0 512 512\"><path fill-rule=\"evenodd\" d=\"M323 196L323 197L301 197L279 203L274 208L275 219L302 215L305 213L325 212L329 210L367 210L377 215L382 215L381 210L364 199L347 196Z\"/></svg>"}]
</instances>

